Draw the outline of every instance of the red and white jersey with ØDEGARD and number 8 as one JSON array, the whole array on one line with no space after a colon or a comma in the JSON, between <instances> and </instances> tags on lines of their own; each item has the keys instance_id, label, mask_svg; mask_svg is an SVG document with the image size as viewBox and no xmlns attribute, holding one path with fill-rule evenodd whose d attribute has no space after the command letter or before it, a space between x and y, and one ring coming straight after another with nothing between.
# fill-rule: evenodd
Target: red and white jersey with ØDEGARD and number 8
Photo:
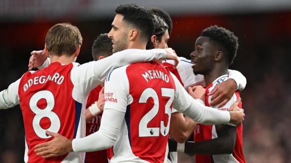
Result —
<instances>
[{"instance_id":1,"label":"red and white jersey with \u00d8DEGARD and number 8","mask_svg":"<svg viewBox=\"0 0 291 163\"><path fill-rule=\"evenodd\" d=\"M91 63L93 64L93 63ZM61 65L54 62L49 67L27 72L19 82L18 96L23 114L25 140L27 148L25 161L28 163L80 163L84 161L84 153L68 154L43 159L34 152L34 146L52 139L45 131L60 133L66 138L85 136L83 90L96 87L85 85L78 72L86 72L85 76L94 75L94 70L86 69L79 63ZM73 71L78 67L78 71ZM95 79L96 82L100 82ZM69 113L69 114L68 114Z\"/></svg>"}]
</instances>

